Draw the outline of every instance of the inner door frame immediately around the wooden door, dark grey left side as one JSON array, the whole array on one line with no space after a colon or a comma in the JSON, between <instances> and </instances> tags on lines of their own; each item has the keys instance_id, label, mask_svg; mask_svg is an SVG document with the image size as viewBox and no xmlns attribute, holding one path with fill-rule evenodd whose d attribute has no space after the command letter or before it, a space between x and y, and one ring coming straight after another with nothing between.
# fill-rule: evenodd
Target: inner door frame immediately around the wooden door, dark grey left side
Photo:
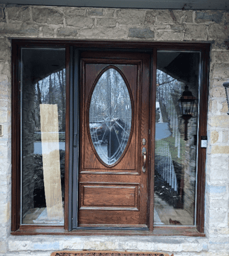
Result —
<instances>
[{"instance_id":1,"label":"inner door frame immediately around the wooden door, dark grey left side","mask_svg":"<svg viewBox=\"0 0 229 256\"><path fill-rule=\"evenodd\" d=\"M147 159L147 169L148 169L148 192L147 192L147 226L146 227L78 227L78 200L79 200L79 149L80 149L80 81L82 77L79 74L82 74L80 67L80 52L85 52L89 50L92 51L106 51L106 52L127 52L127 53L148 53L150 55L150 67L149 67L149 84L150 84L150 99L149 99L149 155ZM155 50L154 50L155 52ZM155 52L156 53L156 52ZM155 54L154 53L154 54ZM150 180L150 177L153 177L151 168L152 161L152 150L154 146L152 145L152 134L154 134L153 129L155 126L152 126L152 113L155 112L152 104L152 77L153 77L153 68L152 68L152 49L142 50L142 49L101 49L101 48L74 48L70 47L69 49L69 76L70 76L70 91L69 91L69 194L68 201L68 231L73 229L90 229L90 230L136 230L136 231L149 231L153 228L153 180ZM156 74L156 66L155 66ZM156 78L156 76L155 76ZM156 80L155 80L156 82ZM156 90L155 92L156 93ZM155 106L154 106L155 108ZM150 132L151 131L151 132ZM150 211L152 209L152 211Z\"/></svg>"}]
</instances>

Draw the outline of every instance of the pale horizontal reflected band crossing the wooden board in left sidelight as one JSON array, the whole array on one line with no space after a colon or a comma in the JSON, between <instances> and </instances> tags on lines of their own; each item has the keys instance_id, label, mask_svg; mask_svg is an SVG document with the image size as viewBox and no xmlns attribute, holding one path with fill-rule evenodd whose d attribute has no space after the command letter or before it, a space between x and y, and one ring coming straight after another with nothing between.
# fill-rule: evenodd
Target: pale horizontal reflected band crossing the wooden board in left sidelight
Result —
<instances>
[{"instance_id":1,"label":"pale horizontal reflected band crossing the wooden board in left sidelight","mask_svg":"<svg viewBox=\"0 0 229 256\"><path fill-rule=\"evenodd\" d=\"M65 142L45 142L43 145L41 145L41 142L35 142L34 143L34 154L42 154L42 149L43 153L50 153L51 151L54 150L65 150Z\"/></svg>"}]
</instances>

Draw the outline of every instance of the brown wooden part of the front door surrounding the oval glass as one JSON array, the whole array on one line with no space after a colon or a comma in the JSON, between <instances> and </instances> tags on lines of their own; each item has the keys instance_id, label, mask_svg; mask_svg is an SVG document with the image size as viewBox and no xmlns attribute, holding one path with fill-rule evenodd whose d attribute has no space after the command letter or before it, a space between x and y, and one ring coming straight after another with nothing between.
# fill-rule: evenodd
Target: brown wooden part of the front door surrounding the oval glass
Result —
<instances>
[{"instance_id":1,"label":"brown wooden part of the front door surrounding the oval glass","mask_svg":"<svg viewBox=\"0 0 229 256\"><path fill-rule=\"evenodd\" d=\"M142 79L149 77L149 59L146 53L81 54L79 227L147 227L149 170L141 171L141 141L148 141L149 134L149 79ZM111 165L98 156L89 129L92 93L103 72L110 68L121 74L132 105L129 140Z\"/></svg>"}]
</instances>

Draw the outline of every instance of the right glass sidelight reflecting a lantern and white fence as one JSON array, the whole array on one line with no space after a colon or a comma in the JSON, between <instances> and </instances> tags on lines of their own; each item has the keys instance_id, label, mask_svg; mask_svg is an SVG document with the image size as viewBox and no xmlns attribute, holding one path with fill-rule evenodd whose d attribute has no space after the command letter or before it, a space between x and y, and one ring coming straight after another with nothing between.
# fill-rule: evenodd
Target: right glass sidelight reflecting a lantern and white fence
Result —
<instances>
[{"instance_id":1,"label":"right glass sidelight reflecting a lantern and white fence","mask_svg":"<svg viewBox=\"0 0 229 256\"><path fill-rule=\"evenodd\" d=\"M160 225L195 224L199 58L198 52L158 52L154 204Z\"/></svg>"}]
</instances>

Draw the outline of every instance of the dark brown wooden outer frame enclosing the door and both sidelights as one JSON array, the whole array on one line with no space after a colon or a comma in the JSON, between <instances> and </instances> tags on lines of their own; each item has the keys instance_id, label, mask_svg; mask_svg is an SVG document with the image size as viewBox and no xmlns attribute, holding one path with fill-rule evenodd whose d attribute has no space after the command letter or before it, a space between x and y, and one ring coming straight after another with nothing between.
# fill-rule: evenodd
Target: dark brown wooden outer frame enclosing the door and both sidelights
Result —
<instances>
[{"instance_id":1,"label":"dark brown wooden outer frame enclosing the door and both sidelights","mask_svg":"<svg viewBox=\"0 0 229 256\"><path fill-rule=\"evenodd\" d=\"M37 235L37 234L81 234L88 235L88 232L77 230L76 232L68 232L73 230L72 216L73 216L73 194L76 190L73 190L73 141L70 141L70 136L73 138L74 131L71 128L73 125L72 117L73 109L73 78L77 80L79 73L76 72L77 67L74 67L74 58L77 58L77 52L73 51L74 47L77 50L80 49L112 49L114 50L125 50L131 52L151 52L154 58L151 59L151 74L153 75L150 84L152 90L150 93L151 103L153 101L154 90L156 89L156 52L157 50L184 50L184 51L199 51L201 53L201 92L200 92L200 110L201 123L199 124L199 145L201 135L207 135L207 110L208 110L208 84L209 84L209 66L210 66L210 43L203 42L150 42L150 41L86 41L86 40L58 40L58 39L12 39L12 60L11 60L11 77L12 77L12 88L11 88L11 126L13 127L11 132L11 234L12 235ZM34 226L24 225L20 222L21 216L21 112L20 112L20 61L21 61L21 48L63 48L66 49L66 142L65 142L65 224L64 226ZM79 52L78 52L79 53ZM155 106L151 104L152 115L150 119L153 120L155 115ZM154 110L153 110L154 109ZM154 150L154 136L153 130L155 129L151 121L151 133L150 140L152 147L152 154ZM153 227L153 214L149 215L149 231L138 232L138 235L189 235L189 236L205 236L204 234L204 211L205 211L205 162L206 162L206 149L198 148L198 177L196 184L196 226L171 226L171 227ZM149 163L154 166L152 156L149 156ZM153 199L153 186L152 180L150 181L151 191ZM152 200L151 200L152 201ZM151 211L152 212L152 211ZM37 229L37 227L39 227ZM120 231L121 232L121 231ZM96 232L96 234L136 234L136 232L126 231L120 232ZM93 232L89 233L94 234Z\"/></svg>"}]
</instances>

